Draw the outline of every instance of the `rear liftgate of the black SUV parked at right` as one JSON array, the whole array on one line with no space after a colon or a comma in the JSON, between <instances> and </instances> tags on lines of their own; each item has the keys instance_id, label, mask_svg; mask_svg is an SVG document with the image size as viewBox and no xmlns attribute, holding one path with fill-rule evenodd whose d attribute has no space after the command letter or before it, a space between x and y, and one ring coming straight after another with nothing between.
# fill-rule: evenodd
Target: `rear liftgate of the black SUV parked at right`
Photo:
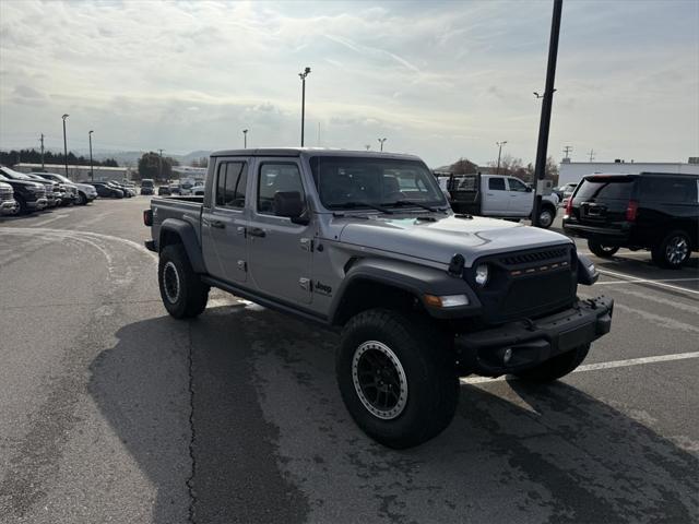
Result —
<instances>
[{"instance_id":1,"label":"rear liftgate of the black SUV parked at right","mask_svg":"<svg viewBox=\"0 0 699 524\"><path fill-rule=\"evenodd\" d=\"M621 227L637 179L627 175L587 177L572 196L573 217L589 226Z\"/></svg>"}]
</instances>

